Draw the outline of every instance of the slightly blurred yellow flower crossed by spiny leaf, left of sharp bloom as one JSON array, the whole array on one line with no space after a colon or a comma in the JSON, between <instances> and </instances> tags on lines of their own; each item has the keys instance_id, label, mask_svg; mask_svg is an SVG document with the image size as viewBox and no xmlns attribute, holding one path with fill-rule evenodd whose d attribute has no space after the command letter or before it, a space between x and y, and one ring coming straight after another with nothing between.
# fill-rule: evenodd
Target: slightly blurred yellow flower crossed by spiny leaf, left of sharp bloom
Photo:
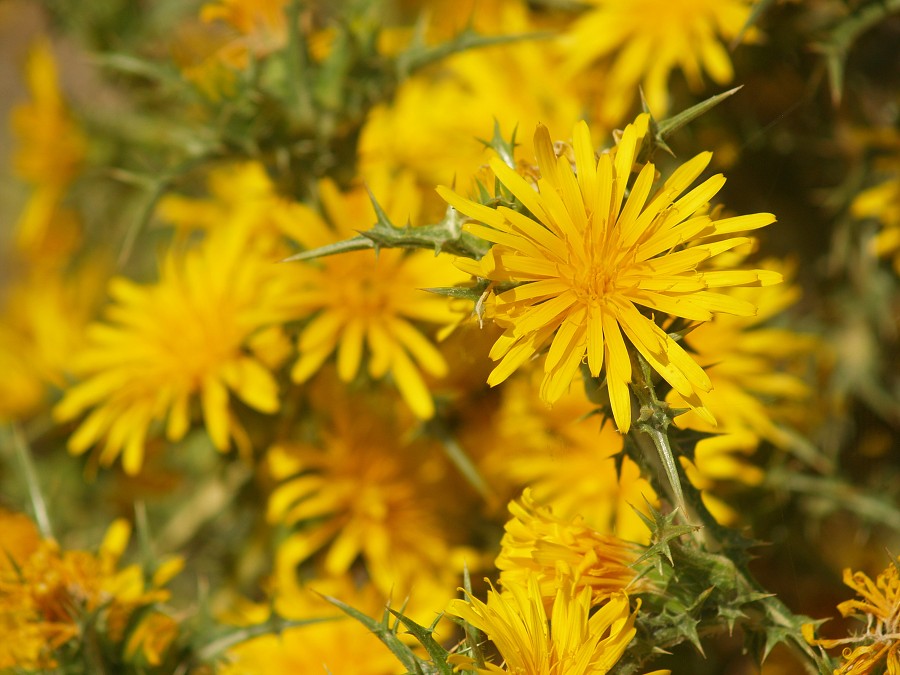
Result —
<instances>
[{"instance_id":1,"label":"slightly blurred yellow flower crossed by spiny leaf, left of sharp bloom","mask_svg":"<svg viewBox=\"0 0 900 675\"><path fill-rule=\"evenodd\" d=\"M393 189L385 209L395 222L406 222L414 217L418 192L409 183L398 183ZM324 181L320 191L334 227L307 209L301 239L306 247L348 239L375 223L364 190L342 194L333 183ZM417 417L434 415L434 402L420 369L443 377L447 363L418 324L446 325L456 314L446 298L422 289L453 285L463 275L444 257L398 249L377 255L374 251L342 253L303 263L301 269L305 282L298 307L315 316L299 337L300 359L291 373L294 381L308 380L336 351L338 376L350 382L359 372L367 347L369 375L380 379L390 373Z\"/></svg>"}]
</instances>

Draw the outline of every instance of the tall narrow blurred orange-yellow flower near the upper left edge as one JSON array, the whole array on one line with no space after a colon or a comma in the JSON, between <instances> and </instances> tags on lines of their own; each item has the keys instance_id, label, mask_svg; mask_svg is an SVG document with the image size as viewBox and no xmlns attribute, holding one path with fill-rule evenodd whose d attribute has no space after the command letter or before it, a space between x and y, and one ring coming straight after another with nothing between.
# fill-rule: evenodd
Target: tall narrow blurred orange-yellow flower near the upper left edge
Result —
<instances>
[{"instance_id":1,"label":"tall narrow blurred orange-yellow flower near the upper left edge","mask_svg":"<svg viewBox=\"0 0 900 675\"><path fill-rule=\"evenodd\" d=\"M12 131L19 141L13 168L32 193L16 224L16 244L30 258L46 260L69 253L80 236L80 226L62 202L84 162L87 140L63 101L46 40L29 53L26 82L31 101L12 110Z\"/></svg>"}]
</instances>

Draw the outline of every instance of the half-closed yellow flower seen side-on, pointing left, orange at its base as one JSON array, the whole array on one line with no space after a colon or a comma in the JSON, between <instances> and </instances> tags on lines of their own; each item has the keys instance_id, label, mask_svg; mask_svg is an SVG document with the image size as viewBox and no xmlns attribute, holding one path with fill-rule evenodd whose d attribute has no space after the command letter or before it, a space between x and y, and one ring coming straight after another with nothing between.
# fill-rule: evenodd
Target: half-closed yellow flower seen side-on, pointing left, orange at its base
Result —
<instances>
[{"instance_id":1,"label":"half-closed yellow flower seen side-on, pointing left, orange at its base","mask_svg":"<svg viewBox=\"0 0 900 675\"><path fill-rule=\"evenodd\" d=\"M636 544L601 534L580 517L556 516L527 489L509 511L513 518L503 528L496 563L504 589L525 586L534 575L548 607L565 579L576 592L589 588L592 606L619 591L641 590L631 567L641 552Z\"/></svg>"}]
</instances>

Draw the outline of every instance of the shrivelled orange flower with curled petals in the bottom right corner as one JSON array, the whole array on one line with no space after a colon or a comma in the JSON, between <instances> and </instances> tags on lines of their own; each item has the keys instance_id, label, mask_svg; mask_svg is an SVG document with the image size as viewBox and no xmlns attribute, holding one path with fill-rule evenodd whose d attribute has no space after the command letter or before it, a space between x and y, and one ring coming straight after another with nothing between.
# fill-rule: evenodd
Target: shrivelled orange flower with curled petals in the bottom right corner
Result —
<instances>
[{"instance_id":1,"label":"shrivelled orange flower with curled petals in the bottom right corner","mask_svg":"<svg viewBox=\"0 0 900 675\"><path fill-rule=\"evenodd\" d=\"M873 582L863 572L844 570L844 583L857 592L859 599L838 605L842 616L865 623L862 633L835 640L815 639L812 624L803 626L803 635L813 645L830 649L846 645L843 663L834 675L867 675L883 672L900 675L900 559L891 561Z\"/></svg>"}]
</instances>

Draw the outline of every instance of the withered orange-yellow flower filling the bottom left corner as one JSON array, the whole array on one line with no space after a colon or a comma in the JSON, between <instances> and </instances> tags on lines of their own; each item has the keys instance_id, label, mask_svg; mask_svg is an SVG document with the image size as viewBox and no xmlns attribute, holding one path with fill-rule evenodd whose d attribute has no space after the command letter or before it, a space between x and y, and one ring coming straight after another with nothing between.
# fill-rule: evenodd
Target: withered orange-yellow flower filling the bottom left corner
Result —
<instances>
[{"instance_id":1,"label":"withered orange-yellow flower filling the bottom left corner","mask_svg":"<svg viewBox=\"0 0 900 675\"><path fill-rule=\"evenodd\" d=\"M160 566L147 587L138 566L118 569L130 535L125 521L109 527L96 554L63 550L51 539L40 539L22 516L6 511L0 511L0 530L4 540L6 533L12 535L0 561L0 670L54 667L55 651L81 639L88 624L113 642L122 641L130 628L126 649L132 655L142 651L150 662L168 648L158 636L145 644L151 636L129 624L140 610L146 613L141 621L159 625L152 617L162 615L151 607L169 597L163 586L181 569L180 559Z\"/></svg>"}]
</instances>

